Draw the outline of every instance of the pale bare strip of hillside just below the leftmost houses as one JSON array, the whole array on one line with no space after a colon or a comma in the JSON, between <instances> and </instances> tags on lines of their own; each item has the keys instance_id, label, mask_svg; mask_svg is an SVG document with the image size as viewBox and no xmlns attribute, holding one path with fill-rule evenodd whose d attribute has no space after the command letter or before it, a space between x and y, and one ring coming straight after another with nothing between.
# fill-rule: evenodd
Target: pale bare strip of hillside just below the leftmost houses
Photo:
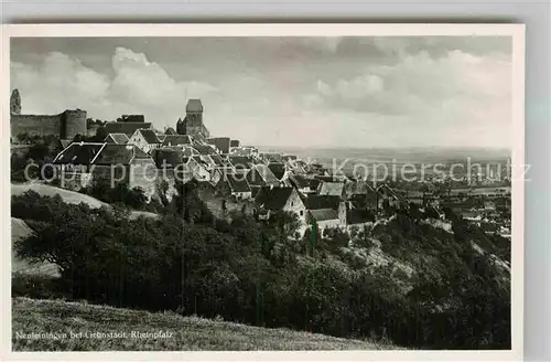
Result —
<instances>
[{"instance_id":1,"label":"pale bare strip of hillside just below the leftmost houses","mask_svg":"<svg viewBox=\"0 0 551 362\"><path fill-rule=\"evenodd\" d=\"M99 201L89 195L85 195L79 192L65 190L56 187L52 187L44 183L12 183L11 184L11 195L20 195L25 193L26 191L34 191L42 196L54 196L58 194L64 202L69 204L79 204L84 202L91 209L99 209L101 206L109 206L109 204ZM155 217L156 215L145 211L132 211L130 214L131 219L136 219L139 216L150 216Z\"/></svg>"}]
</instances>

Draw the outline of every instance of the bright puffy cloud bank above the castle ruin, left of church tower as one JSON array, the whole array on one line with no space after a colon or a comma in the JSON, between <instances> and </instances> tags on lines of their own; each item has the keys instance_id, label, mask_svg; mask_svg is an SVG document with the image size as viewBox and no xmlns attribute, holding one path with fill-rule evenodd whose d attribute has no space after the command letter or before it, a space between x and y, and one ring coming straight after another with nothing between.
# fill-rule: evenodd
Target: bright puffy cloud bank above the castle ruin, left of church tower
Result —
<instances>
[{"instance_id":1,"label":"bright puffy cloud bank above the castle ruin, left of church tower","mask_svg":"<svg viewBox=\"0 0 551 362\"><path fill-rule=\"evenodd\" d=\"M78 58L52 52L36 66L12 63L12 88L20 89L23 113L80 108L104 120L143 114L161 129L185 114L186 97L203 98L218 92L194 79L176 81L145 54L125 47L116 49L111 66L114 76L109 77Z\"/></svg>"}]
</instances>

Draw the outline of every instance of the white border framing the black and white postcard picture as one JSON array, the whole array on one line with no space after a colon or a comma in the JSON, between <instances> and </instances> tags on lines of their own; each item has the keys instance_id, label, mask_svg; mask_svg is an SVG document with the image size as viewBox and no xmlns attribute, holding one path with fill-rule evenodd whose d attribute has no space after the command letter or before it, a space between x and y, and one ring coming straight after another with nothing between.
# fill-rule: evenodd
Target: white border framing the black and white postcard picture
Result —
<instances>
[{"instance_id":1,"label":"white border framing the black and white postcard picture","mask_svg":"<svg viewBox=\"0 0 551 362\"><path fill-rule=\"evenodd\" d=\"M2 157L9 169L10 135L10 38L89 36L415 36L501 35L512 39L512 234L511 234L511 330L510 351L346 351L346 352L11 352L11 243L2 253L2 359L13 361L520 361L523 345L523 215L525 215L525 25L523 24L40 24L2 25ZM6 162L6 163L3 163ZM1 178L3 241L11 238L9 173ZM8 245L8 246L6 246Z\"/></svg>"}]
</instances>

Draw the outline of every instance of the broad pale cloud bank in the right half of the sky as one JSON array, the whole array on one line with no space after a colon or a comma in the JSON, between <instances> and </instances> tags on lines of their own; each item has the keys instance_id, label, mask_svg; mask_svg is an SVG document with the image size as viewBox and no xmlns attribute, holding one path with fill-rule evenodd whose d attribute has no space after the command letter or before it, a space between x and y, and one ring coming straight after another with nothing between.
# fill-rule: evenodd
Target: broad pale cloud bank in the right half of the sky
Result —
<instances>
[{"instance_id":1,"label":"broad pale cloud bank in the right half of the sky","mask_svg":"<svg viewBox=\"0 0 551 362\"><path fill-rule=\"evenodd\" d=\"M368 66L364 74L333 84L318 79L315 94L333 107L408 115L450 99L503 107L510 98L510 60L452 51L436 60L420 53L392 66Z\"/></svg>"}]
</instances>

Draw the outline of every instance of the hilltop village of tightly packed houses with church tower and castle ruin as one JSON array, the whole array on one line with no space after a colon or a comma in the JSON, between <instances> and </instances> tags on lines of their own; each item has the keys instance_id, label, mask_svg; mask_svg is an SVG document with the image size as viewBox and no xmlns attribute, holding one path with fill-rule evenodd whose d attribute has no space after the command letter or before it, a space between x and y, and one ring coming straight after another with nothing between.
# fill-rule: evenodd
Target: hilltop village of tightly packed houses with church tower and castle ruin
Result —
<instances>
[{"instance_id":1,"label":"hilltop village of tightly packed houses with church tower and castle ruin","mask_svg":"<svg viewBox=\"0 0 551 362\"><path fill-rule=\"evenodd\" d=\"M71 113L66 110L58 118L44 116L54 118L44 118L36 127L14 125L24 123L25 117L41 117L21 115L19 92L14 91L11 102L12 137L23 130L60 138L63 150L53 160L55 174L62 188L73 191L107 177L129 189L142 189L149 199L163 189L170 200L177 180L193 181L202 200L219 217L239 211L266 220L273 212L285 211L298 216L302 230L313 222L321 230L350 230L391 217L397 210L417 209L445 221L447 210L488 234L510 238L510 189L494 187L488 180L478 188L442 188L445 180L429 178L420 191L407 182L374 183L367 178L336 174L316 161L260 151L230 137L212 137L203 120L201 99L188 99L184 119L162 131L142 115L123 115L98 127L87 123L86 113L79 109L77 118L63 116ZM52 120L58 120L58 126L43 124ZM102 141L78 141L84 128L87 136L102 128L106 137Z\"/></svg>"}]
</instances>

